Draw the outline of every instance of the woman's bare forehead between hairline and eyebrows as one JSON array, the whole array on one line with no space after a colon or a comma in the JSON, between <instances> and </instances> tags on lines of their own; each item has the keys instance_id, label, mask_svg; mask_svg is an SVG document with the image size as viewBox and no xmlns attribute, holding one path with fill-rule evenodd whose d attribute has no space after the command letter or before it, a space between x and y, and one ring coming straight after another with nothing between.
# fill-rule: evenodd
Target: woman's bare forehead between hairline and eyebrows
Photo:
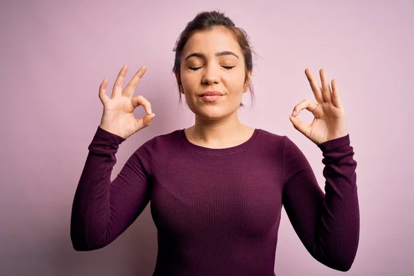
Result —
<instances>
[{"instance_id":1,"label":"woman's bare forehead between hairline and eyebrows","mask_svg":"<svg viewBox=\"0 0 414 276\"><path fill-rule=\"evenodd\" d=\"M233 51L239 57L242 55L239 43L229 30L214 28L202 32L195 32L188 39L183 49L183 56L192 52L201 52L204 55L214 55L216 52Z\"/></svg>"}]
</instances>

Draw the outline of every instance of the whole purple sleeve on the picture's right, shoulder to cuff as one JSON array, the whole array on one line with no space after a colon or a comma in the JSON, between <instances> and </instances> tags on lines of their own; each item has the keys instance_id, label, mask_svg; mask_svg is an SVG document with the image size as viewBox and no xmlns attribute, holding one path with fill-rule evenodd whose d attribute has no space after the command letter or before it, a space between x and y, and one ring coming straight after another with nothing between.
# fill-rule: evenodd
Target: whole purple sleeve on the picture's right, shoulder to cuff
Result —
<instances>
[{"instance_id":1,"label":"whole purple sleeve on the picture's right, shoulder to cuff","mask_svg":"<svg viewBox=\"0 0 414 276\"><path fill-rule=\"evenodd\" d=\"M318 147L324 157L325 193L302 151L285 137L283 204L308 252L330 268L347 271L359 243L357 162L349 135Z\"/></svg>"}]
</instances>

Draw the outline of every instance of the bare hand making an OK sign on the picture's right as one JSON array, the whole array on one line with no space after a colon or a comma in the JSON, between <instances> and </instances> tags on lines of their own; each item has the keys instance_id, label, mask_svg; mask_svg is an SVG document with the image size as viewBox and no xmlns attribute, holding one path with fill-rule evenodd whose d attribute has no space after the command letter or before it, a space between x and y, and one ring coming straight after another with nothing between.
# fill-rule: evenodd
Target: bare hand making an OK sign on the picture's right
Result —
<instances>
[{"instance_id":1,"label":"bare hand making an OK sign on the picture's right","mask_svg":"<svg viewBox=\"0 0 414 276\"><path fill-rule=\"evenodd\" d=\"M346 127L346 113L344 106L342 106L341 99L339 98L339 92L335 79L332 80L332 89L329 86L329 82L326 80L324 69L319 70L321 77L322 88L317 83L316 79L312 77L312 74L308 68L305 70L306 77L308 77L309 83L313 95L317 103L304 99L293 108L293 113L289 117L293 124L293 127L302 132L303 135L311 139L313 143L319 145L325 141L344 137L348 134ZM308 125L297 118L299 112L302 109L312 112L315 118L312 124Z\"/></svg>"}]
</instances>

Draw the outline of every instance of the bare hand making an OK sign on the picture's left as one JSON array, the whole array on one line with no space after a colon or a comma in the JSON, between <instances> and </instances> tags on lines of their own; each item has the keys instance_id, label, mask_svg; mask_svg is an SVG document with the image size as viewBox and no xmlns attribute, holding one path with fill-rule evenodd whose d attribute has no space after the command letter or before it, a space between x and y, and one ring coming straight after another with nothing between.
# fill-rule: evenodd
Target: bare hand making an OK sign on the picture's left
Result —
<instances>
[{"instance_id":1,"label":"bare hand making an OK sign on the picture's left","mask_svg":"<svg viewBox=\"0 0 414 276\"><path fill-rule=\"evenodd\" d=\"M110 98L106 95L108 80L103 79L101 86L99 86L99 99L101 99L103 104L103 115L99 126L103 130L123 137L124 139L130 137L138 130L149 126L155 117L155 114L151 111L151 103L149 101L141 95L132 98L135 88L137 88L141 77L146 72L145 66L142 66L138 70L124 91L122 91L122 83L124 82L127 71L128 66L122 66ZM132 113L137 106L143 106L147 113L140 119L135 119Z\"/></svg>"}]
</instances>

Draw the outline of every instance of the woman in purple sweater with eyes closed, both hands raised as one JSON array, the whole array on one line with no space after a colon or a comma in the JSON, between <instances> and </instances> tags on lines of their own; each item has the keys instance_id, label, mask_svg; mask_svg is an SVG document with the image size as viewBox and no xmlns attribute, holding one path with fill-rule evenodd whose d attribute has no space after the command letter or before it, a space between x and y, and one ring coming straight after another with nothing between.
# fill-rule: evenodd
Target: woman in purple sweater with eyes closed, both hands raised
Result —
<instances>
[{"instance_id":1,"label":"woman in purple sweater with eyes closed, both hands raised","mask_svg":"<svg viewBox=\"0 0 414 276\"><path fill-rule=\"evenodd\" d=\"M293 141L237 117L253 70L242 29L220 12L201 12L175 52L180 99L186 97L195 124L146 141L112 182L119 144L149 126L155 114L144 97L132 97L145 67L121 91L124 66L110 98L106 79L101 83L103 116L72 208L75 250L110 244L150 201L159 244L153 275L274 275L283 205L317 261L349 270L359 241L357 163L335 81L330 87L321 70L320 88L306 69L317 102L298 103L290 116L322 150L324 194ZM132 113L137 106L147 113L141 119ZM315 116L310 126L297 119L305 108Z\"/></svg>"}]
</instances>

